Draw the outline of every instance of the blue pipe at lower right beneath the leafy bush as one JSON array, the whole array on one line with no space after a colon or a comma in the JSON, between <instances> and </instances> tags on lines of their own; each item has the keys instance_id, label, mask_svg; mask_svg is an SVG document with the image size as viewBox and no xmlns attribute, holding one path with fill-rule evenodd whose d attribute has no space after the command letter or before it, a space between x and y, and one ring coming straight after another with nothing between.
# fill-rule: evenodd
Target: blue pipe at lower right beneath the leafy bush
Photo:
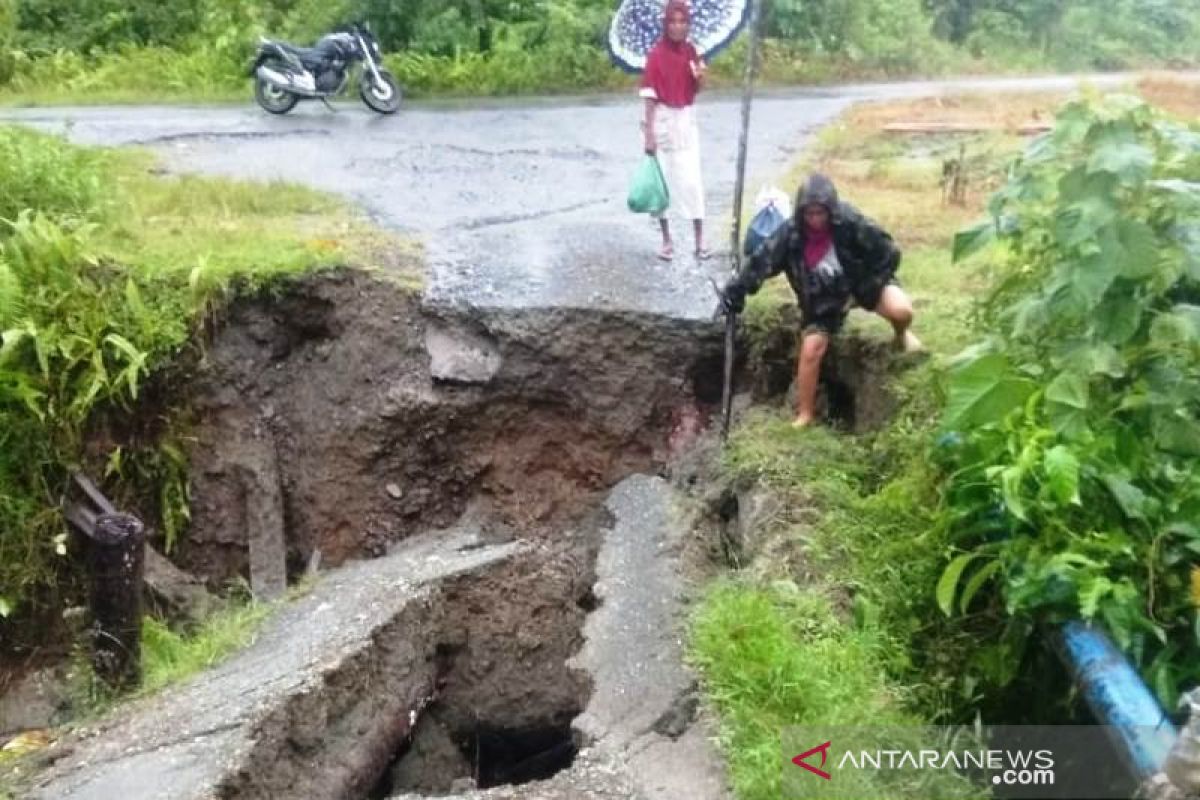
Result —
<instances>
[{"instance_id":1,"label":"blue pipe at lower right beneath the leafy bush","mask_svg":"<svg viewBox=\"0 0 1200 800\"><path fill-rule=\"evenodd\" d=\"M1067 622L1057 638L1088 708L1109 726L1139 780L1162 771L1178 733L1129 661L1103 631L1084 622Z\"/></svg>"}]
</instances>

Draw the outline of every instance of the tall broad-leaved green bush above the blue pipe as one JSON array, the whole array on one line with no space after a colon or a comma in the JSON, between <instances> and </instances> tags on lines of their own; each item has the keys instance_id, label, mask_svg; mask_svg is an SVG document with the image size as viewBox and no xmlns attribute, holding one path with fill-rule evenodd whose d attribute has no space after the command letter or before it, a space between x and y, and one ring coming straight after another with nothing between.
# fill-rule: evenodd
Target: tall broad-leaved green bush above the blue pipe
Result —
<instances>
[{"instance_id":1,"label":"tall broad-leaved green bush above the blue pipe","mask_svg":"<svg viewBox=\"0 0 1200 800\"><path fill-rule=\"evenodd\" d=\"M952 373L938 582L968 612L1097 620L1164 705L1200 678L1200 138L1140 101L1073 103L994 218L992 338Z\"/></svg>"}]
</instances>

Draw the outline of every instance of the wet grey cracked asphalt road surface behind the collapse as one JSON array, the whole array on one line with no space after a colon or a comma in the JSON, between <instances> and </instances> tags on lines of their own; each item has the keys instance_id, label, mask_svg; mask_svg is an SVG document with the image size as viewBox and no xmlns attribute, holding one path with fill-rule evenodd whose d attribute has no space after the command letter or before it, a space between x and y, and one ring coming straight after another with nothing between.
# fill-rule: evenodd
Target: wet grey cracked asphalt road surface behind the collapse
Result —
<instances>
[{"instance_id":1,"label":"wet grey cracked asphalt road surface behind the collapse","mask_svg":"<svg viewBox=\"0 0 1200 800\"><path fill-rule=\"evenodd\" d=\"M1091 76L1099 88L1130 76ZM779 180L808 138L858 101L962 91L1069 89L1070 77L877 84L760 92L750 121L746 197ZM691 253L677 221L676 259L656 260L655 223L625 207L641 154L636 96L408 104L378 116L360 103L301 103L271 116L238 107L53 108L0 113L100 145L138 144L172 172L288 180L338 193L379 224L418 234L428 300L479 307L593 307L710 317L709 278L728 273L740 102L698 107L714 258ZM790 193L791 186L782 186ZM900 237L902 241L902 231Z\"/></svg>"}]
</instances>

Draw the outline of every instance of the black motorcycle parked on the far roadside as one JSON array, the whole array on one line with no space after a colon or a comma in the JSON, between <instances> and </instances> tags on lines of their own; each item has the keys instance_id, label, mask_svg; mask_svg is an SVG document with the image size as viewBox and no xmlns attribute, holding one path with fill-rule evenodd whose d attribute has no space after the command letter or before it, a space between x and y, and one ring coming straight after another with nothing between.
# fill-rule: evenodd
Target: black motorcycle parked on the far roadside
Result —
<instances>
[{"instance_id":1,"label":"black motorcycle parked on the far roadside","mask_svg":"<svg viewBox=\"0 0 1200 800\"><path fill-rule=\"evenodd\" d=\"M359 96L380 114L400 110L400 85L382 67L379 42L362 25L323 36L314 47L293 47L263 38L250 68L254 100L271 114L287 114L298 102L316 98L329 103L359 73ZM361 68L354 67L361 65Z\"/></svg>"}]
</instances>

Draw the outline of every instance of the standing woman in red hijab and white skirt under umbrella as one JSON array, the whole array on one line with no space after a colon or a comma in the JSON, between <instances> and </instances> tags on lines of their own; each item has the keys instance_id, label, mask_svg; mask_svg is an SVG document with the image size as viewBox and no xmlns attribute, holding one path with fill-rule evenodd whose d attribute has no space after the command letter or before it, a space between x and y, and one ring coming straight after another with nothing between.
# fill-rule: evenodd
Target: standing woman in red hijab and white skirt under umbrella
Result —
<instances>
[{"instance_id":1,"label":"standing woman in red hijab and white skirt under umbrella","mask_svg":"<svg viewBox=\"0 0 1200 800\"><path fill-rule=\"evenodd\" d=\"M704 248L704 185L700 172L700 128L696 125L696 92L707 70L688 41L691 11L686 2L670 0L662 38L650 50L638 92L646 101L646 152L656 154L671 193L668 210L691 219L696 234L696 258L708 258ZM659 258L674 257L666 211L659 215L662 249Z\"/></svg>"}]
</instances>

